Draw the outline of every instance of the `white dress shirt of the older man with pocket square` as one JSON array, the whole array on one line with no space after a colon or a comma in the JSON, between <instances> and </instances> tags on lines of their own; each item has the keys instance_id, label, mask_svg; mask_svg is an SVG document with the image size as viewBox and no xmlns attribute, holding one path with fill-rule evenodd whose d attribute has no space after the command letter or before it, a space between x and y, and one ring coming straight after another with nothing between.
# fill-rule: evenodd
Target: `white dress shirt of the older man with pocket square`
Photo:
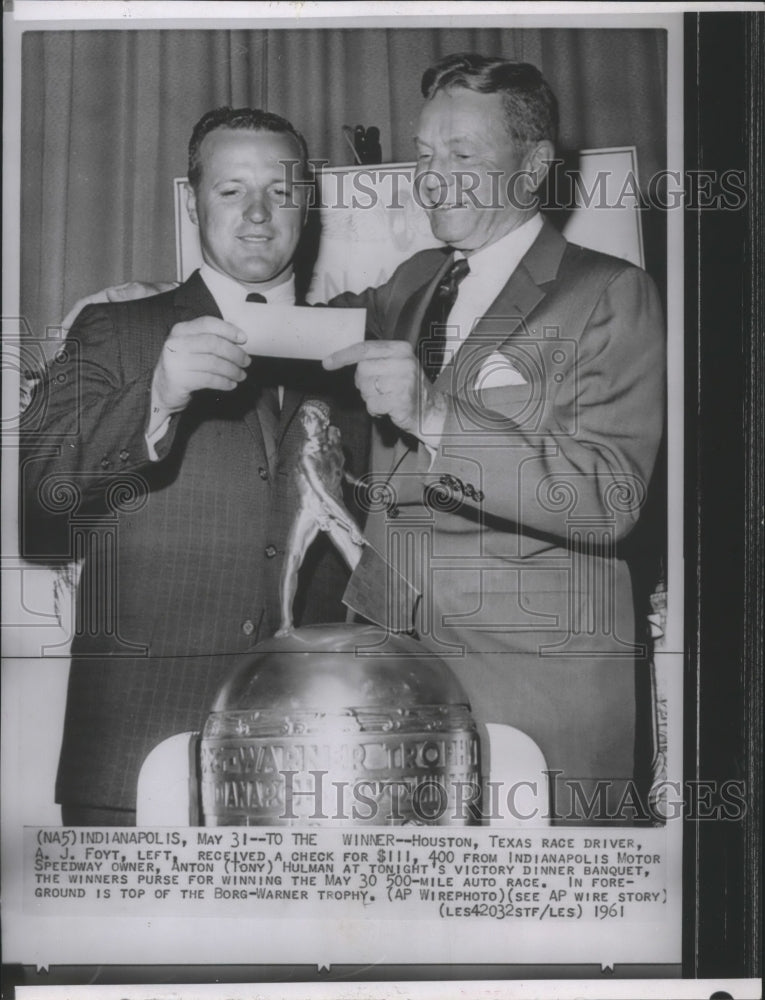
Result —
<instances>
[{"instance_id":1,"label":"white dress shirt of the older man with pocket square","mask_svg":"<svg viewBox=\"0 0 765 1000\"><path fill-rule=\"evenodd\" d=\"M454 259L465 257L470 272L459 284L457 299L446 320L447 339L444 363L453 357L470 334L476 322L507 284L510 275L531 248L544 225L539 214L488 246L466 257L455 250Z\"/></svg>"}]
</instances>

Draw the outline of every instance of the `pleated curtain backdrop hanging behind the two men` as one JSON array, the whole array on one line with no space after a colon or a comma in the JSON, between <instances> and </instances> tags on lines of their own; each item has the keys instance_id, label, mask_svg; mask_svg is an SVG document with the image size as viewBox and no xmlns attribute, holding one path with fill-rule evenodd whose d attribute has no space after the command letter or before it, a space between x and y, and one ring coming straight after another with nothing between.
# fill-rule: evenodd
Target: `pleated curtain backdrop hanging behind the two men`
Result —
<instances>
[{"instance_id":1,"label":"pleated curtain backdrop hanging behind the two men","mask_svg":"<svg viewBox=\"0 0 765 1000\"><path fill-rule=\"evenodd\" d=\"M89 292L175 277L171 184L205 111L278 112L332 165L353 162L342 125L376 125L383 160L410 160L423 70L468 50L539 66L560 101L562 150L635 145L641 179L664 167L661 31L28 32L21 307L33 335Z\"/></svg>"}]
</instances>

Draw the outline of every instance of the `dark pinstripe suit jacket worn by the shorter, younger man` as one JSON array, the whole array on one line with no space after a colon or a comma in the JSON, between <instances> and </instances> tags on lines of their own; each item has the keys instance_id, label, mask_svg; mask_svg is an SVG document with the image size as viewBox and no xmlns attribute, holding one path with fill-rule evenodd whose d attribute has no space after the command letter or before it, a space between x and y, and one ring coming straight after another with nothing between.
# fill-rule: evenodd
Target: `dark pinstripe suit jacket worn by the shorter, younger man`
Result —
<instances>
[{"instance_id":1,"label":"dark pinstripe suit jacket worn by the shorter, younger man","mask_svg":"<svg viewBox=\"0 0 765 1000\"><path fill-rule=\"evenodd\" d=\"M24 441L25 534L58 510L66 554L83 562L60 802L134 808L149 750L198 729L227 671L273 633L307 394L330 402L349 466L363 471L366 422L349 377L299 363L270 373L287 389L269 467L257 359L233 392L196 393L150 462L154 366L171 327L203 315L220 314L198 273L153 298L88 306L44 386L43 426ZM303 576L298 621L342 620L347 573L323 536Z\"/></svg>"}]
</instances>

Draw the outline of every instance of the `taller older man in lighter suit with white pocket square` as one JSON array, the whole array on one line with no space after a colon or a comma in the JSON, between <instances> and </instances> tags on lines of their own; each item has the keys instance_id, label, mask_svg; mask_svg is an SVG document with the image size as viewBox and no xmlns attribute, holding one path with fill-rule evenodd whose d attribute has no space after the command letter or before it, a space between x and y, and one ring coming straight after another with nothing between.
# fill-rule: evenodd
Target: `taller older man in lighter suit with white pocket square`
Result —
<instances>
[{"instance_id":1,"label":"taller older man in lighter suit with white pocket square","mask_svg":"<svg viewBox=\"0 0 765 1000\"><path fill-rule=\"evenodd\" d=\"M367 309L372 339L325 361L356 365L376 418L366 532L422 592L417 630L478 717L541 746L554 817L640 818L645 662L618 543L663 423L656 291L537 211L557 127L538 70L450 56L422 89L419 192L444 246L335 300ZM400 615L363 557L346 598Z\"/></svg>"}]
</instances>

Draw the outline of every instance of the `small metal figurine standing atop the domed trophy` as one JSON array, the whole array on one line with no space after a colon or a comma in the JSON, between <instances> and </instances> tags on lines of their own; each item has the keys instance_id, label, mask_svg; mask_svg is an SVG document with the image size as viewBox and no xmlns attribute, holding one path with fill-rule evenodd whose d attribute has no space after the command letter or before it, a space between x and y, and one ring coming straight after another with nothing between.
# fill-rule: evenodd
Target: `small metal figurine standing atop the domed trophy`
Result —
<instances>
[{"instance_id":1,"label":"small metal figurine standing atop the domed trophy","mask_svg":"<svg viewBox=\"0 0 765 1000\"><path fill-rule=\"evenodd\" d=\"M306 400L300 408L305 441L294 470L300 505L287 536L279 585L281 623L277 636L293 629L292 605L298 574L309 545L326 532L351 570L366 544L356 522L342 503L345 477L340 431L330 426L329 407L320 400Z\"/></svg>"}]
</instances>

